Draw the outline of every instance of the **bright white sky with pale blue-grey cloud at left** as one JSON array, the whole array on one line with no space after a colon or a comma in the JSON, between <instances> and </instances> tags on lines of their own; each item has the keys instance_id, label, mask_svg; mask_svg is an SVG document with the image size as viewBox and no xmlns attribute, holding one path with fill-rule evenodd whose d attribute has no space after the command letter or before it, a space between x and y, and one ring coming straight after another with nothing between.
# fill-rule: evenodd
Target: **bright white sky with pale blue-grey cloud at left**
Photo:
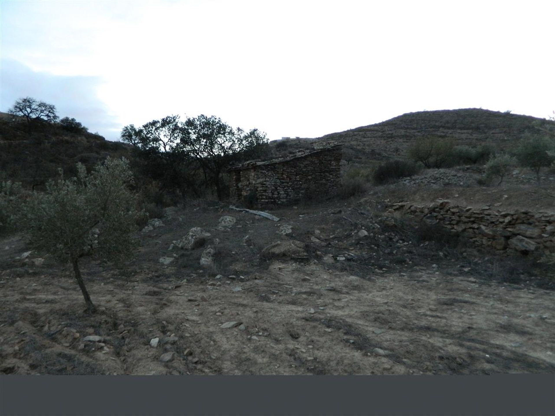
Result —
<instances>
[{"instance_id":1,"label":"bright white sky with pale blue-grey cloud at left","mask_svg":"<svg viewBox=\"0 0 555 416\"><path fill-rule=\"evenodd\" d=\"M555 1L0 0L0 111L117 140L170 114L270 140L410 111L555 110Z\"/></svg>"}]
</instances>

